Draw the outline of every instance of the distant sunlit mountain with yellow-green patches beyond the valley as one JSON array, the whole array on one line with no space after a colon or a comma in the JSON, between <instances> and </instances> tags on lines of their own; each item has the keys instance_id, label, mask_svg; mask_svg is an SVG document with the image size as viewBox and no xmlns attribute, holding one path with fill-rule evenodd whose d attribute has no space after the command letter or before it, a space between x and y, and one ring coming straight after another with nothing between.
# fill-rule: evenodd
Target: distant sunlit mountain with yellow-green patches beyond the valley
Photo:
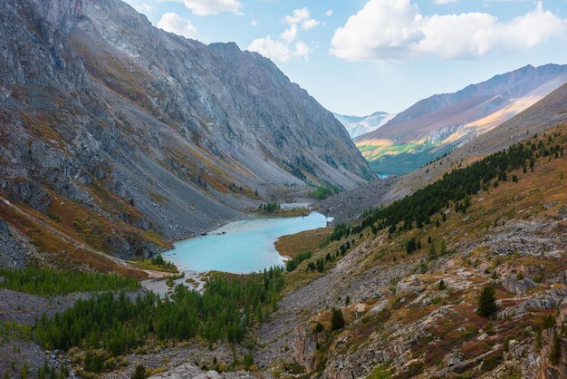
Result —
<instances>
[{"instance_id":1,"label":"distant sunlit mountain with yellow-green patches beyond the valley","mask_svg":"<svg viewBox=\"0 0 567 379\"><path fill-rule=\"evenodd\" d=\"M373 170L406 173L495 128L566 82L567 65L527 65L421 100L354 140Z\"/></svg>"}]
</instances>

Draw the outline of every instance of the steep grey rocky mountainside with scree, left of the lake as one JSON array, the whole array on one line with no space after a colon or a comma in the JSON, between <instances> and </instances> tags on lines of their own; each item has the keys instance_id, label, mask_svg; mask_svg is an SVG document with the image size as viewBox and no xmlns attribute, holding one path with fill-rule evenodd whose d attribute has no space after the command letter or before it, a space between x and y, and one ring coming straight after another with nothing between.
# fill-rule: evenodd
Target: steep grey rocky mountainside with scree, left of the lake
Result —
<instances>
[{"instance_id":1,"label":"steep grey rocky mountainside with scree, left of the lake","mask_svg":"<svg viewBox=\"0 0 567 379\"><path fill-rule=\"evenodd\" d=\"M0 34L0 195L66 234L91 220L124 242L112 253L213 228L277 188L373 178L331 112L235 44L165 33L119 0L7 0Z\"/></svg>"}]
</instances>

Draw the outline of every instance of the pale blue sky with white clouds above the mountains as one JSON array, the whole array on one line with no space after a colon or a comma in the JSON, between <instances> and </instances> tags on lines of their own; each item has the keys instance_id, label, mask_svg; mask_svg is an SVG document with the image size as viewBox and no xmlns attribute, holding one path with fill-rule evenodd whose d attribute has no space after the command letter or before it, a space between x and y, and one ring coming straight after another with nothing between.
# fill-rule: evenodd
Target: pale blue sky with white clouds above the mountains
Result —
<instances>
[{"instance_id":1,"label":"pale blue sky with white clouds above the mountains","mask_svg":"<svg viewBox=\"0 0 567 379\"><path fill-rule=\"evenodd\" d=\"M272 59L332 112L401 112L526 64L567 63L567 0L126 0Z\"/></svg>"}]
</instances>

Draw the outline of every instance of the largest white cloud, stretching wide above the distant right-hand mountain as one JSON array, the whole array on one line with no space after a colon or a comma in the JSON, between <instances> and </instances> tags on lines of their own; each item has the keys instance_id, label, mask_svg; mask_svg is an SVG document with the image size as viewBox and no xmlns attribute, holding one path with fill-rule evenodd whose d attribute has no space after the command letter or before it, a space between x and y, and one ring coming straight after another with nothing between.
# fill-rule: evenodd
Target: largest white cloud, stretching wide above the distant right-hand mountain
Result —
<instances>
[{"instance_id":1,"label":"largest white cloud, stretching wide above the distant right-hand mountain","mask_svg":"<svg viewBox=\"0 0 567 379\"><path fill-rule=\"evenodd\" d=\"M524 49L567 34L567 20L543 10L503 23L495 15L421 15L410 0L370 0L337 29L333 55L350 61L391 60L422 55L469 59L496 50Z\"/></svg>"}]
</instances>

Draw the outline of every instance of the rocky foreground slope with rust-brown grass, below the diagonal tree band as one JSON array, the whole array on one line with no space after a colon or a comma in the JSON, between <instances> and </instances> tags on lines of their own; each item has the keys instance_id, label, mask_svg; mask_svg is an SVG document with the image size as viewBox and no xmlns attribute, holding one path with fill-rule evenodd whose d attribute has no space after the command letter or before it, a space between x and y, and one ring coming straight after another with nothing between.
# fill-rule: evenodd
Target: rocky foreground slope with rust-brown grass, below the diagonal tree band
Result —
<instances>
[{"instance_id":1,"label":"rocky foreground slope with rust-brown grass, below the diagonal tree band","mask_svg":"<svg viewBox=\"0 0 567 379\"><path fill-rule=\"evenodd\" d=\"M563 125L525 146L564 151L566 133ZM563 377L565 162L563 152L541 156L533 172L509 171L518 182L473 196L466 213L451 206L422 228L365 228L322 248L313 260L325 259L323 273L304 262L287 278L289 293L258 333L257 361L283 377ZM420 243L408 254L409 238ZM487 286L498 306L490 318L476 314ZM346 321L339 330L332 308Z\"/></svg>"}]
</instances>

